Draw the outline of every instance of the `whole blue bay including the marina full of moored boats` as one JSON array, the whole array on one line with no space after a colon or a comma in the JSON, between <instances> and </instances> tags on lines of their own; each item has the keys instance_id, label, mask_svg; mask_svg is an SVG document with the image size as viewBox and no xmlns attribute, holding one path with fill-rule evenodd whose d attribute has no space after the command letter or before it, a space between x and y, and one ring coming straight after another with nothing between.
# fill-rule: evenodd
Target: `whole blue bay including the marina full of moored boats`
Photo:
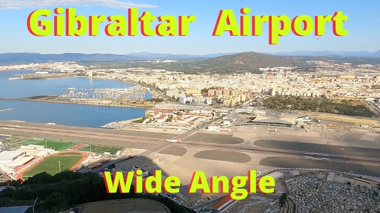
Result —
<instances>
[{"instance_id":1,"label":"whole blue bay including the marina full of moored boats","mask_svg":"<svg viewBox=\"0 0 380 213\"><path fill-rule=\"evenodd\" d=\"M116 107L113 100L143 100L152 97L150 91L133 83L87 77L44 78L30 80L8 80L8 78L33 72L32 70L9 70L0 72L0 120L34 123L55 123L79 127L101 127L116 121L143 117L146 108L133 106ZM83 104L49 102L44 96L59 96L74 93L66 99L87 99ZM125 95L123 95L125 94ZM32 97L26 99L27 97ZM101 99L99 98L101 97ZM36 98L36 99L35 99ZM40 99L39 99L40 98ZM18 99L18 100L12 100ZM20 100L21 99L21 100ZM70 100L69 99L69 100ZM101 105L98 100L108 101ZM10 110L12 109L12 110Z\"/></svg>"}]
</instances>

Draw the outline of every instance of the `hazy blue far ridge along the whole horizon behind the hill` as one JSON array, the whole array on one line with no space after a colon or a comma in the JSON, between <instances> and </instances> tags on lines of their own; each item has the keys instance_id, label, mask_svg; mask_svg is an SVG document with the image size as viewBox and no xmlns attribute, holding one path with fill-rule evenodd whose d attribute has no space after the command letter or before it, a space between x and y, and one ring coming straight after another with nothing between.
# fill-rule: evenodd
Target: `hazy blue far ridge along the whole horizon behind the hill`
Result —
<instances>
[{"instance_id":1,"label":"hazy blue far ridge along the whole horizon behind the hill","mask_svg":"<svg viewBox=\"0 0 380 213\"><path fill-rule=\"evenodd\" d=\"M249 52L251 54L253 52ZM89 62L89 61L141 61L141 60L190 60L199 61L208 58L217 58L223 56L229 58L231 55L239 53L214 53L206 55L189 55L189 54L168 54L168 53L150 53L150 52L138 52L127 53L123 55L118 54L85 54L85 53L62 53L62 54L41 54L41 53L0 53L0 64L21 64L32 63L37 61L55 62L55 61L77 61L77 62ZM276 52L276 53L262 53L266 57L255 56L252 60L255 62L261 61L267 62L274 60L274 56L333 56L333 57L372 57L380 58L380 50L377 52L338 52L338 51L304 51L297 50L293 52ZM240 56L239 56L240 57ZM289 58L288 57L288 58ZM244 58L244 57L243 57ZM291 58L291 57L290 57ZM287 61L285 58L280 61ZM210 60L211 62L212 60ZM242 60L244 61L244 60ZM277 61L277 60L274 60ZM279 61L279 62L280 62ZM204 63L200 62L201 64ZM231 62L229 62L231 63ZM236 62L238 63L238 62ZM191 64L191 63L190 63ZM195 63L196 64L196 63ZM285 65L284 65L285 66Z\"/></svg>"}]
</instances>

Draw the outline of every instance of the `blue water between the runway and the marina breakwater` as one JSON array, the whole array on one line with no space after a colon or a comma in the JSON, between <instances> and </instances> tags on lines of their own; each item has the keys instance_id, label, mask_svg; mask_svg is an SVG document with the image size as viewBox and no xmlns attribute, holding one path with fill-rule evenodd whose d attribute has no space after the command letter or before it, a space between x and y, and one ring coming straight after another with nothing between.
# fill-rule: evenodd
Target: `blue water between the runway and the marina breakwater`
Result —
<instances>
[{"instance_id":1,"label":"blue water between the runway and the marina breakwater","mask_svg":"<svg viewBox=\"0 0 380 213\"><path fill-rule=\"evenodd\" d=\"M78 127L101 127L114 121L143 117L144 108L109 107L72 103L49 103L24 100L0 100L0 120L33 123L56 123Z\"/></svg>"}]
</instances>

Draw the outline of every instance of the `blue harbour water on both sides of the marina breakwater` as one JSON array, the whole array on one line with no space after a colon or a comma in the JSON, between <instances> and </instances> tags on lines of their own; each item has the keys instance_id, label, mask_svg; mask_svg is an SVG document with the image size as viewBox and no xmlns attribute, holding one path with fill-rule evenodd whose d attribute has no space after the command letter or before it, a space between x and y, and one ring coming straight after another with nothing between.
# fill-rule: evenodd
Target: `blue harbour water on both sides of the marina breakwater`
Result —
<instances>
[{"instance_id":1,"label":"blue harbour water on both sides of the marina breakwater","mask_svg":"<svg viewBox=\"0 0 380 213\"><path fill-rule=\"evenodd\" d=\"M31 96L60 95L68 88L127 88L133 86L114 80L67 77L51 79L8 80L33 70L0 72L0 97L22 98ZM150 96L151 97L151 96ZM149 98L147 96L146 98ZM144 116L144 108L109 107L71 103L49 103L22 100L0 100L0 120L17 120L35 123L56 123L80 127L101 127L114 121L124 121Z\"/></svg>"}]
</instances>

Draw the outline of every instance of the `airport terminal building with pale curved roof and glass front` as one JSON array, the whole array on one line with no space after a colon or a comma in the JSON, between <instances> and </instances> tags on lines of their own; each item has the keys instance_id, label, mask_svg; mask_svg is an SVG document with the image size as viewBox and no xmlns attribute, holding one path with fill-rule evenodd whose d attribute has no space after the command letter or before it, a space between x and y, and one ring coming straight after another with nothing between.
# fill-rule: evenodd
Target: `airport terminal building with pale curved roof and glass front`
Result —
<instances>
[{"instance_id":1,"label":"airport terminal building with pale curved roof and glass front","mask_svg":"<svg viewBox=\"0 0 380 213\"><path fill-rule=\"evenodd\" d=\"M282 113L281 115L261 115L258 114L255 119L250 121L249 125L266 125L274 127L294 127L299 123L309 120L308 114L288 114Z\"/></svg>"}]
</instances>

